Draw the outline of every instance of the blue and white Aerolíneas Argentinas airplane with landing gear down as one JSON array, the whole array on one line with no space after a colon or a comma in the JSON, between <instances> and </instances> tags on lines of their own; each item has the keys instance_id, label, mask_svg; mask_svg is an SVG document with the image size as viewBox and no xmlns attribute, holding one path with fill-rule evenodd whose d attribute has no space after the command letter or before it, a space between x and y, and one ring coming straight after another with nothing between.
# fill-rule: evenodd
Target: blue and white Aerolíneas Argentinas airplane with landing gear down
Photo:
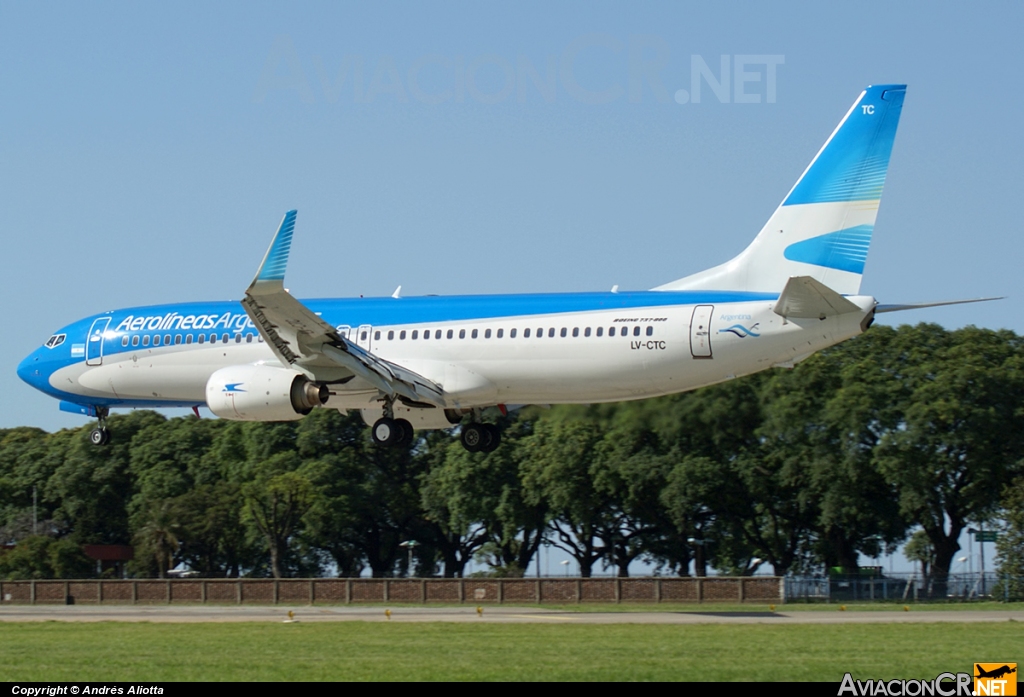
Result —
<instances>
[{"instance_id":1,"label":"blue and white Aerol\u00edneas Argentinas airplane with landing gear down","mask_svg":"<svg viewBox=\"0 0 1024 697\"><path fill-rule=\"evenodd\" d=\"M596 403L693 390L792 367L855 337L880 305L860 295L905 85L865 88L738 256L648 291L298 300L284 287L289 211L241 305L130 307L54 333L18 376L97 419L114 407L207 406L289 421L358 409L382 445L451 429L470 451L501 441L484 409Z\"/></svg>"}]
</instances>

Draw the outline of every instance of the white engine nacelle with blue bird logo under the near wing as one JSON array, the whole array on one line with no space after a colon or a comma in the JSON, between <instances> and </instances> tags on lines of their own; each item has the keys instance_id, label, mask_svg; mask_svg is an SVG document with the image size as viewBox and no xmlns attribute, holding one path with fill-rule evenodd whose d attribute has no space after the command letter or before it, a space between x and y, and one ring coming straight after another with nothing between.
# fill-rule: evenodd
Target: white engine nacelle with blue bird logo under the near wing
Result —
<instances>
[{"instance_id":1,"label":"white engine nacelle with blue bird logo under the near wing","mask_svg":"<svg viewBox=\"0 0 1024 697\"><path fill-rule=\"evenodd\" d=\"M295 421L327 402L327 385L272 365L222 367L206 384L206 403L231 421Z\"/></svg>"}]
</instances>

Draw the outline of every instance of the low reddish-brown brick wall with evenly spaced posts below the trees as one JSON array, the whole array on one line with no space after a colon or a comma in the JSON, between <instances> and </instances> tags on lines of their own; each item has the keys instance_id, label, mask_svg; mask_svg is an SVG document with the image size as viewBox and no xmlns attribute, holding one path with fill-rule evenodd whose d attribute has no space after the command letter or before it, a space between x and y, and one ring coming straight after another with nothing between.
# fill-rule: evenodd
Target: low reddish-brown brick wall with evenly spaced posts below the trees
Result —
<instances>
[{"instance_id":1,"label":"low reddish-brown brick wall with evenly spaced posts below the trees","mask_svg":"<svg viewBox=\"0 0 1024 697\"><path fill-rule=\"evenodd\" d=\"M0 581L0 604L780 603L781 578L288 578Z\"/></svg>"}]
</instances>

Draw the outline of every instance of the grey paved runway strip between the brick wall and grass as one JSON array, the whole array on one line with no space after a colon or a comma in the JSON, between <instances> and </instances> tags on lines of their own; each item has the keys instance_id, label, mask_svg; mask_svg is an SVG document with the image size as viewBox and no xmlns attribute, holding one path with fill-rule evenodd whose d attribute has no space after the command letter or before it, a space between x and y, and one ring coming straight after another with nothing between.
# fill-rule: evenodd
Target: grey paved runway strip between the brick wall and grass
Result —
<instances>
[{"instance_id":1,"label":"grey paved runway strip between the brick wall and grass","mask_svg":"<svg viewBox=\"0 0 1024 697\"><path fill-rule=\"evenodd\" d=\"M390 617L385 610L390 610ZM750 611L626 611L567 612L536 607L287 607L287 606L144 606L144 605L5 605L0 622L284 622L288 613L300 622L501 622L577 624L869 624L927 622L1024 622L1024 610L864 610L827 609L786 611L777 607Z\"/></svg>"}]
</instances>

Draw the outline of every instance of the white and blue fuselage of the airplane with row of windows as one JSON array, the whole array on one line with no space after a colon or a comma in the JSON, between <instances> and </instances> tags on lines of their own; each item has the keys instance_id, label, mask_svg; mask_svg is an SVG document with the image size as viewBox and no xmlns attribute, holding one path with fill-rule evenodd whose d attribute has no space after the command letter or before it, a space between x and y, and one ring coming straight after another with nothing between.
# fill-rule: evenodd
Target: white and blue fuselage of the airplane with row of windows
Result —
<instances>
[{"instance_id":1,"label":"white and blue fuselage of the airplane with row of windows","mask_svg":"<svg viewBox=\"0 0 1024 697\"><path fill-rule=\"evenodd\" d=\"M433 380L453 407L589 403L691 390L792 364L859 334L874 307L785 319L777 294L581 293L311 300L342 336ZM59 330L18 366L67 402L106 407L197 406L216 371L278 362L237 302L128 308ZM368 408L357 378L329 406Z\"/></svg>"}]
</instances>

